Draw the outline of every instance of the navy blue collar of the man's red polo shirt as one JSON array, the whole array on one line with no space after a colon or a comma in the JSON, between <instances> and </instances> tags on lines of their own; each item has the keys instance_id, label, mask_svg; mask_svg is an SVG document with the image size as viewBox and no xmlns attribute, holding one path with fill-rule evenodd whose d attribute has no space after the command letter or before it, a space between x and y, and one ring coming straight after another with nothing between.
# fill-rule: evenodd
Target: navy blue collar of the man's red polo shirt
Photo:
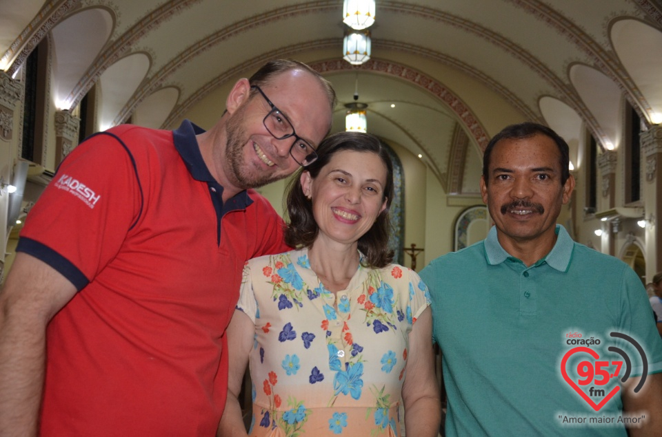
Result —
<instances>
[{"instance_id":1,"label":"navy blue collar of the man's red polo shirt","mask_svg":"<svg viewBox=\"0 0 662 437\"><path fill-rule=\"evenodd\" d=\"M172 131L174 147L179 152L181 159L184 161L184 164L191 173L193 179L207 182L210 186L216 187L217 190L219 188L222 190L223 186L214 179L214 176L212 176L212 173L210 173L207 168L207 164L205 164L205 161L202 159L202 153L200 153L200 147L195 138L196 135L204 134L204 132L205 129L194 125L194 123L189 120L183 120L181 125ZM239 208L245 208L253 202L248 196L246 190L237 193L232 199L236 201L234 203Z\"/></svg>"}]
</instances>

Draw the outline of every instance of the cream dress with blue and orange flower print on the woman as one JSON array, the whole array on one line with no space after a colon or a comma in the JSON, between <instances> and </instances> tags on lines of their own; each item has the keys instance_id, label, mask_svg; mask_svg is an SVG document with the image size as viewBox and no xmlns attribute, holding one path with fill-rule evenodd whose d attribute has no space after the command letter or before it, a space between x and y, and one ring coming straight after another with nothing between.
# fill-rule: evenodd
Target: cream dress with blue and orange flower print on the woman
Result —
<instances>
[{"instance_id":1,"label":"cream dress with blue and orange flower print on the woman","mask_svg":"<svg viewBox=\"0 0 662 437\"><path fill-rule=\"evenodd\" d=\"M359 266L326 290L308 250L251 259L237 308L255 325L250 436L400 436L409 332L430 305L409 268Z\"/></svg>"}]
</instances>

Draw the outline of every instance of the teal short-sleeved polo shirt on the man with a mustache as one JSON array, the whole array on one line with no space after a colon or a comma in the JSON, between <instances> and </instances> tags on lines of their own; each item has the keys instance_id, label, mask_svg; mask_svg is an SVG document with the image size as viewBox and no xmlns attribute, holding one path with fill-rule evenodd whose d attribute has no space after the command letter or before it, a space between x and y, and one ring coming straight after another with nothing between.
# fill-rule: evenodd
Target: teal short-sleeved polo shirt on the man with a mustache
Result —
<instances>
[{"instance_id":1,"label":"teal short-sleeved polo shirt on the man with a mustache","mask_svg":"<svg viewBox=\"0 0 662 437\"><path fill-rule=\"evenodd\" d=\"M610 346L628 355L632 374L641 372L634 345L611 332L641 345L648 374L662 372L662 340L639 277L619 259L573 242L563 226L556 235L552 251L527 267L501 247L492 227L482 242L421 271L442 352L447 436L625 436L621 391L595 411L561 372L566 354L565 372L576 385L582 361L623 361ZM580 345L599 358L570 353ZM582 387L617 385L617 377L607 385L596 380ZM598 404L605 396L595 394Z\"/></svg>"}]
</instances>

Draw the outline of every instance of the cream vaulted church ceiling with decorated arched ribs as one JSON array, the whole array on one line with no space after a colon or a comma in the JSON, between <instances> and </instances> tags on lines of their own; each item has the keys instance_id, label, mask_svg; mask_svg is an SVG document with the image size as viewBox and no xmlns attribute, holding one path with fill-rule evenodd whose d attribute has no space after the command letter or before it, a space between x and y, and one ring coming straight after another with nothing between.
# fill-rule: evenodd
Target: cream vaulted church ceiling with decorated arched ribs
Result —
<instances>
[{"instance_id":1,"label":"cream vaulted church ceiling with decorated arched ribs","mask_svg":"<svg viewBox=\"0 0 662 437\"><path fill-rule=\"evenodd\" d=\"M53 60L70 107L97 83L112 93L104 123L172 128L205 96L292 57L334 84L334 130L358 72L369 131L421 154L460 194L476 191L467 180L481 150L511 122L552 125L571 147L583 123L605 147L617 142L619 96L648 124L662 117L662 0L377 0L372 60L358 68L341 60L342 10L341 0L0 0L0 69L18 74L34 45L57 36L79 55L58 65L72 59L59 44ZM81 13L102 33L81 34Z\"/></svg>"}]
</instances>

